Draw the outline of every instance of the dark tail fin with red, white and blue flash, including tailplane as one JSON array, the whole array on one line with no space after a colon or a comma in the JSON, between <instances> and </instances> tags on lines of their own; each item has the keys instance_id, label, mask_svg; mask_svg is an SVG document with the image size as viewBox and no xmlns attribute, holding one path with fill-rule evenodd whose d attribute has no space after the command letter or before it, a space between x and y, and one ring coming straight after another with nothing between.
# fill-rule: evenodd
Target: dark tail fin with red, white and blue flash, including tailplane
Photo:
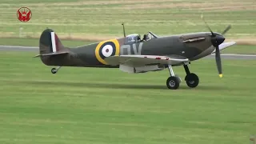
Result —
<instances>
[{"instance_id":1,"label":"dark tail fin with red, white and blue flash, including tailplane","mask_svg":"<svg viewBox=\"0 0 256 144\"><path fill-rule=\"evenodd\" d=\"M62 45L54 30L46 29L42 32L39 40L39 54L35 57L67 53L69 53L67 48Z\"/></svg>"}]
</instances>

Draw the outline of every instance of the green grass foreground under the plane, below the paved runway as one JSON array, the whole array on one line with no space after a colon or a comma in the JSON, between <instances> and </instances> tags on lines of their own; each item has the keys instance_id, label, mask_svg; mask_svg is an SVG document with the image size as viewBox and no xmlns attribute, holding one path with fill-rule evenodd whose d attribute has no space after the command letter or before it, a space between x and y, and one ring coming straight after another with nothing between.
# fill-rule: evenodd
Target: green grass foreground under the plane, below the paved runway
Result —
<instances>
[{"instance_id":1,"label":"green grass foreground under the plane, below the paved runway","mask_svg":"<svg viewBox=\"0 0 256 144\"><path fill-rule=\"evenodd\" d=\"M0 53L0 143L249 143L256 134L254 60L192 62L199 86L167 90L168 70L49 66L34 52ZM182 79L182 67L174 67Z\"/></svg>"}]
</instances>

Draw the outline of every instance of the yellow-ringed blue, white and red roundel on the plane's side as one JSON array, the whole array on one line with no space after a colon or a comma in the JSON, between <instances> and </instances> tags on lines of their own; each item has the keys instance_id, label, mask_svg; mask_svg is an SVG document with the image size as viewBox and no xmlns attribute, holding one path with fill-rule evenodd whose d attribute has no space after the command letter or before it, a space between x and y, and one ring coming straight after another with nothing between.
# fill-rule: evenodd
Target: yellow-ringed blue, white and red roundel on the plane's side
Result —
<instances>
[{"instance_id":1,"label":"yellow-ringed blue, white and red roundel on the plane's side","mask_svg":"<svg viewBox=\"0 0 256 144\"><path fill-rule=\"evenodd\" d=\"M99 62L107 65L104 59L110 56L118 55L119 49L118 40L112 39L98 43L98 46L95 49L95 55Z\"/></svg>"}]
</instances>

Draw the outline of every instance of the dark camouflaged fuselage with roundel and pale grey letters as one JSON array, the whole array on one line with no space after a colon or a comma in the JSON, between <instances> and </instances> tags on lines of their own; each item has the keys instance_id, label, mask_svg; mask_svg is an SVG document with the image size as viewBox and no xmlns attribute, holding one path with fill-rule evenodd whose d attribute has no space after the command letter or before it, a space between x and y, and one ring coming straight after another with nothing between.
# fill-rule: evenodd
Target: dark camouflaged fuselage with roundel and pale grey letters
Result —
<instances>
[{"instance_id":1,"label":"dark camouflaged fuselage with roundel and pale grey letters","mask_svg":"<svg viewBox=\"0 0 256 144\"><path fill-rule=\"evenodd\" d=\"M218 34L218 33L214 33ZM159 55L172 58L203 58L214 51L210 32L176 34L146 41L128 42L127 38L114 38L86 46L65 48L70 53L62 57L42 59L48 66L109 67L104 58L114 55Z\"/></svg>"}]
</instances>

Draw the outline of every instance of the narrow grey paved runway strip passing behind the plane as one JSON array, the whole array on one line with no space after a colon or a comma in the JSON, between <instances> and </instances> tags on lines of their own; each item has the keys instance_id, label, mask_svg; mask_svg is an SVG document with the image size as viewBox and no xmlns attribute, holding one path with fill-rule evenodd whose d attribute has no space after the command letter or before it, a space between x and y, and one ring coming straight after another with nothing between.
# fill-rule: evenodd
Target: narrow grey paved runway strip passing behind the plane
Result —
<instances>
[{"instance_id":1,"label":"narrow grey paved runway strip passing behind the plane","mask_svg":"<svg viewBox=\"0 0 256 144\"><path fill-rule=\"evenodd\" d=\"M36 46L0 46L0 51L34 51L39 52ZM221 54L222 58L227 59L256 59L256 54ZM206 58L215 58L215 54L211 54Z\"/></svg>"}]
</instances>

